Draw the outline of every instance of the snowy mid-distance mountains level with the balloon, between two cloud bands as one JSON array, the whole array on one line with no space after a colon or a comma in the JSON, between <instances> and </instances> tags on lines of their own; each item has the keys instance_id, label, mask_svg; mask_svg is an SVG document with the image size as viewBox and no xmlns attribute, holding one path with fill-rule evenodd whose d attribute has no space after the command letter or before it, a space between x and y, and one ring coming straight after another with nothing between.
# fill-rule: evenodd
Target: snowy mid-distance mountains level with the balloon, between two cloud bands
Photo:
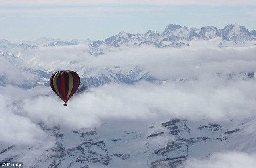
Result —
<instances>
[{"instance_id":1,"label":"snowy mid-distance mountains level with the balloon, between two cloud bands","mask_svg":"<svg viewBox=\"0 0 256 168\"><path fill-rule=\"evenodd\" d=\"M12 85L20 88L28 89L37 86L38 84L49 86L49 78L51 72L31 68L29 64L26 64L20 57L11 55L9 53L1 52L0 55L2 69L1 86ZM73 66L77 64L71 64L67 66L74 70ZM6 68L4 68L6 67ZM183 82L185 80L196 80L196 78L180 77L180 78L156 78L151 75L151 72L145 68L138 66L130 67L128 69L122 69L119 66L112 68L82 68L76 67L76 71L80 75L80 82L87 88L98 87L109 83L118 84L136 84L141 81L152 82L154 84L162 84L168 81L172 82ZM248 80L254 79L255 72L228 72L228 73L216 73L219 78L224 80Z\"/></svg>"}]
</instances>

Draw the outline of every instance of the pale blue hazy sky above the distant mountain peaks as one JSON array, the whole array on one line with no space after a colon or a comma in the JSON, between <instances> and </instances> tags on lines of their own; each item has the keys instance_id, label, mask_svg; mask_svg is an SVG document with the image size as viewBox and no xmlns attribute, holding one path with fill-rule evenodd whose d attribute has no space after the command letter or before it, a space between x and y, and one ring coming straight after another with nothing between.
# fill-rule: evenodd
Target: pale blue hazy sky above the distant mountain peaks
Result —
<instances>
[{"instance_id":1,"label":"pale blue hazy sky above the distant mountain peaks","mask_svg":"<svg viewBox=\"0 0 256 168\"><path fill-rule=\"evenodd\" d=\"M231 23L256 29L255 0L1 0L0 39L42 36L103 40L120 31L162 32L168 24L187 27Z\"/></svg>"}]
</instances>

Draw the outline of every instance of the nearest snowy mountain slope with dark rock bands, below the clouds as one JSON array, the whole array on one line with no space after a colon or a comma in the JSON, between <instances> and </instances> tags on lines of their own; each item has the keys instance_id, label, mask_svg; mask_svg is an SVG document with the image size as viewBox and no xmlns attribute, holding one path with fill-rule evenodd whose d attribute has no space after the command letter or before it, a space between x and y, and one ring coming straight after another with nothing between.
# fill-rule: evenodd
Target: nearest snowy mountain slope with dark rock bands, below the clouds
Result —
<instances>
[{"instance_id":1,"label":"nearest snowy mountain slope with dark rock bands, below the clouds","mask_svg":"<svg viewBox=\"0 0 256 168\"><path fill-rule=\"evenodd\" d=\"M178 168L188 158L207 158L213 152L254 152L255 116L221 122L169 119L162 123L112 121L99 127L69 130L60 125L36 123L54 139L51 148L31 157L30 168ZM243 138L241 138L243 137ZM23 160L24 154L42 148L40 144L0 145L1 162ZM22 149L22 150L21 150Z\"/></svg>"}]
</instances>

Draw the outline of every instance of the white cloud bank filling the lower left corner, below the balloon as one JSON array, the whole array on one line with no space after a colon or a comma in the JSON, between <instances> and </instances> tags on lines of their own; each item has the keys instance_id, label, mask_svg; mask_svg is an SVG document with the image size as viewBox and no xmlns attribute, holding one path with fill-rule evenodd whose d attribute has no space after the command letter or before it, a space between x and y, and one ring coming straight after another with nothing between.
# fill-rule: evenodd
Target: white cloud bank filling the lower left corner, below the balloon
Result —
<instances>
[{"instance_id":1,"label":"white cloud bank filling the lower left corner, below the balloon","mask_svg":"<svg viewBox=\"0 0 256 168\"><path fill-rule=\"evenodd\" d=\"M4 89L8 90L7 87ZM31 158L40 157L45 149L52 147L55 139L47 135L38 124L19 111L20 109L11 110L12 100L8 94L0 94L0 150L12 147L2 153L1 158L13 158L17 155L24 163L30 164L33 162Z\"/></svg>"}]
</instances>

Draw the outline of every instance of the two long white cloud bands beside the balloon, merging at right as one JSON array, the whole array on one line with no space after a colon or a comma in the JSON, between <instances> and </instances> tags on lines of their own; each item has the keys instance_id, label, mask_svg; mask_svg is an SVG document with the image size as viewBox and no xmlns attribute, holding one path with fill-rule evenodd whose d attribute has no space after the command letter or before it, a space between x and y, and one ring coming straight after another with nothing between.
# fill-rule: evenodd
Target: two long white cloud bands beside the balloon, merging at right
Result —
<instances>
[{"instance_id":1,"label":"two long white cloud bands beside the balloon, merging at right","mask_svg":"<svg viewBox=\"0 0 256 168\"><path fill-rule=\"evenodd\" d=\"M60 109L62 102L55 94L33 100L27 98L23 108L32 121L66 123L73 128L100 125L106 118L163 120L172 116L221 120L253 115L256 110L256 90L252 89L255 80L243 75L256 71L256 47L220 49L218 40L221 39L213 40L191 41L190 47L182 49L111 48L111 52L97 57L84 52L88 49L86 45L39 47L20 57L49 72L69 69L83 77L89 72L93 76L94 69L120 66L121 72L128 72L138 66L167 82L159 85L140 82L131 86L107 84L72 97L64 109ZM227 80L229 76L232 78ZM188 80L180 82L180 78Z\"/></svg>"}]
</instances>

